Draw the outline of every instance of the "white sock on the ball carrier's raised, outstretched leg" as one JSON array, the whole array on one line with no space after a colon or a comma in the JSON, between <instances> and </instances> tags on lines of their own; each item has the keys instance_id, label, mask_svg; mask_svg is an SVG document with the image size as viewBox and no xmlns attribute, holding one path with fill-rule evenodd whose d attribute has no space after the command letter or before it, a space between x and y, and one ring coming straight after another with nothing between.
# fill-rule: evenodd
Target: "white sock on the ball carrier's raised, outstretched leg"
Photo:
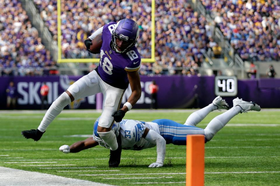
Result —
<instances>
[{"instance_id":1,"label":"white sock on the ball carrier's raised, outstretched leg","mask_svg":"<svg viewBox=\"0 0 280 186\"><path fill-rule=\"evenodd\" d=\"M53 103L50 105L50 108L46 112L41 124L38 127L38 130L44 132L50 123L55 119L57 115L63 110L63 108L71 103L71 99L66 92L63 92Z\"/></svg>"}]
</instances>

